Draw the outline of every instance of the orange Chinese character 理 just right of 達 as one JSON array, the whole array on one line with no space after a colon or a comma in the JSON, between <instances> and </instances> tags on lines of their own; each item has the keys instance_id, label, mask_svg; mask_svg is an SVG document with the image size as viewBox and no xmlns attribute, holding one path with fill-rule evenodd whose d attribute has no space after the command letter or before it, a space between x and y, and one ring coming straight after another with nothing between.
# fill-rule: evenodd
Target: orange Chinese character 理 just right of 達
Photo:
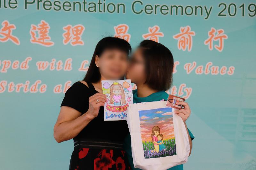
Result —
<instances>
[{"instance_id":1,"label":"orange Chinese character \u7406 just right of \u9054","mask_svg":"<svg viewBox=\"0 0 256 170\"><path fill-rule=\"evenodd\" d=\"M63 30L66 32L62 34L63 36L63 44L67 45L69 42L72 46L76 45L84 45L84 41L81 40L81 36L84 32L84 26L81 24L71 26L67 25L63 27Z\"/></svg>"}]
</instances>

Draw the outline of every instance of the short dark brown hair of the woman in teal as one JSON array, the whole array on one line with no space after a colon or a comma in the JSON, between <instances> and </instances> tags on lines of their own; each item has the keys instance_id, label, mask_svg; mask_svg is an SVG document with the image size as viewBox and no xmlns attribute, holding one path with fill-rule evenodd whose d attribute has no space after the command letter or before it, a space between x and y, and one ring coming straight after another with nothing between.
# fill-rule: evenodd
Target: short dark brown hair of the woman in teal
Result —
<instances>
[{"instance_id":1,"label":"short dark brown hair of the woman in teal","mask_svg":"<svg viewBox=\"0 0 256 170\"><path fill-rule=\"evenodd\" d=\"M168 90L172 85L173 56L163 44L152 40L140 42L139 48L146 63L145 84L155 90Z\"/></svg>"}]
</instances>

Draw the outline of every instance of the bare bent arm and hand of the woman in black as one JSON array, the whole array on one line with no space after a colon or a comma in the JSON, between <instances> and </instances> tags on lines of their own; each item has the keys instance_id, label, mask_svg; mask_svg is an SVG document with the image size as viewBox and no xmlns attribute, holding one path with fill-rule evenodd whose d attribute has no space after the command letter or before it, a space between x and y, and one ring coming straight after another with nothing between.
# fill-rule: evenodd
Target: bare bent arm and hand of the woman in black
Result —
<instances>
[{"instance_id":1,"label":"bare bent arm and hand of the woman in black","mask_svg":"<svg viewBox=\"0 0 256 170\"><path fill-rule=\"evenodd\" d=\"M99 100L98 103L96 100ZM62 106L57 122L53 128L53 136L60 143L76 137L84 127L98 116L100 106L104 106L106 96L96 93L89 98L89 109L81 115L81 112L72 107Z\"/></svg>"}]
</instances>

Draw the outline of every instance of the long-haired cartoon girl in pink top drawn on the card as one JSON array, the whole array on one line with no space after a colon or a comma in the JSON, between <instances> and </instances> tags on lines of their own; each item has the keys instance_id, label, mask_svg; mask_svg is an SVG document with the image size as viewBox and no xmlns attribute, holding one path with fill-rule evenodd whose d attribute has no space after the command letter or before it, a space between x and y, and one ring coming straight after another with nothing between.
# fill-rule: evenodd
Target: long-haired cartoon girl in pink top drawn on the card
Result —
<instances>
[{"instance_id":1,"label":"long-haired cartoon girl in pink top drawn on the card","mask_svg":"<svg viewBox=\"0 0 256 170\"><path fill-rule=\"evenodd\" d=\"M126 103L124 88L121 84L114 82L110 86L110 101L109 104L116 106L123 105Z\"/></svg>"}]
</instances>

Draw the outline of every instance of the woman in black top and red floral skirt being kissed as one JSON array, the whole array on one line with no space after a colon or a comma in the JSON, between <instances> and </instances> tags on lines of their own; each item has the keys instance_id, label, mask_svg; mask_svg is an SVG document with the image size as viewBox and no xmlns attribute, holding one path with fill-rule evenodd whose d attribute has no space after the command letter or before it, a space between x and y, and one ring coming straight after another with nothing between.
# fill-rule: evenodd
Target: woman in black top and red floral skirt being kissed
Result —
<instances>
[{"instance_id":1,"label":"woman in black top and red floral skirt being kissed","mask_svg":"<svg viewBox=\"0 0 256 170\"><path fill-rule=\"evenodd\" d=\"M70 170L130 169L123 150L126 121L104 121L101 80L124 79L130 44L120 38L105 37L95 48L83 81L65 93L54 126L57 142L74 140Z\"/></svg>"}]
</instances>

